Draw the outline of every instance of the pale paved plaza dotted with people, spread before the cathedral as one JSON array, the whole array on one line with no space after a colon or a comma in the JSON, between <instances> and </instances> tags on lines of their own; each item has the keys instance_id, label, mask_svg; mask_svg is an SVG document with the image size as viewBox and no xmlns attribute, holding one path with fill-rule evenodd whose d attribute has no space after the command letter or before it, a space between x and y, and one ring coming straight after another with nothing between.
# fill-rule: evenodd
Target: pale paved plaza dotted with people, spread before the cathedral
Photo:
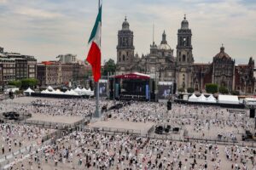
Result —
<instances>
[{"instance_id":1,"label":"pale paved plaza dotted with people, spread before the cathedral","mask_svg":"<svg viewBox=\"0 0 256 170\"><path fill-rule=\"evenodd\" d=\"M163 103L131 102L102 112L88 125L61 128L90 121L94 104L93 99L3 100L1 111L32 117L0 124L0 169L255 169L256 143L241 140L246 129L254 128L247 110L173 104L167 111ZM109 108L113 101L102 99L103 105ZM156 134L156 126L170 126L171 131ZM178 132L172 131L175 127Z\"/></svg>"}]
</instances>

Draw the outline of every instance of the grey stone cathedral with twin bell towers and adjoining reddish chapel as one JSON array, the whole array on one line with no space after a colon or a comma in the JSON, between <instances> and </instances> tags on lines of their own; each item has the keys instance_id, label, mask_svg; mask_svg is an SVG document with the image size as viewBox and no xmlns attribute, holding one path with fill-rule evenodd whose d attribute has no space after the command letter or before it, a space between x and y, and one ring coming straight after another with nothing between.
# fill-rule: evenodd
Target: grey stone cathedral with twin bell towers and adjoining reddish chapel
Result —
<instances>
[{"instance_id":1,"label":"grey stone cathedral with twin bell towers and adjoining reddish chapel","mask_svg":"<svg viewBox=\"0 0 256 170\"><path fill-rule=\"evenodd\" d=\"M236 65L235 59L225 53L222 45L212 63L195 63L192 31L186 16L177 30L176 57L173 54L174 49L166 41L166 31L163 31L160 44L153 42L150 53L141 57L134 53L133 37L133 31L125 17L122 29L118 32L116 73L119 75L140 72L150 75L156 82L173 82L177 84L177 89L194 88L201 93L205 92L207 83L216 83L230 92L256 93L252 57L247 65Z\"/></svg>"}]
</instances>

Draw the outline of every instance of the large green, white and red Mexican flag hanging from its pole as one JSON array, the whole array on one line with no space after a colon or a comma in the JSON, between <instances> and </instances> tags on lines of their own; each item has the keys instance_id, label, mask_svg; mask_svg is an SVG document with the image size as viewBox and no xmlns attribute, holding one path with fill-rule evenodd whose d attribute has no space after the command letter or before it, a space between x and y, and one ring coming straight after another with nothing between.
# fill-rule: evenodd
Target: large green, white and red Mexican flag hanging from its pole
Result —
<instances>
[{"instance_id":1,"label":"large green, white and red Mexican flag hanging from its pole","mask_svg":"<svg viewBox=\"0 0 256 170\"><path fill-rule=\"evenodd\" d=\"M92 67L94 81L98 82L101 78L101 34L102 34L102 5L96 18L95 25L90 33L89 44L90 51L87 55L87 61Z\"/></svg>"}]
</instances>

